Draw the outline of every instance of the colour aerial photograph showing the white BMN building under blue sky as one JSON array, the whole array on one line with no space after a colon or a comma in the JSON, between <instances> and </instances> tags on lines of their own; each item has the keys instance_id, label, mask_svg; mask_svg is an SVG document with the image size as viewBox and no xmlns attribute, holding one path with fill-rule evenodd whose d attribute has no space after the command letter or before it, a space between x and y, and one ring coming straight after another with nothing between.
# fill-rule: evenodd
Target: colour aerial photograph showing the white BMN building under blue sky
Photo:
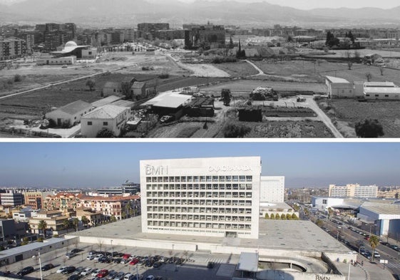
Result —
<instances>
[{"instance_id":1,"label":"colour aerial photograph showing the white BMN building under blue sky","mask_svg":"<svg viewBox=\"0 0 400 280\"><path fill-rule=\"evenodd\" d=\"M399 142L0 154L1 279L399 279Z\"/></svg>"}]
</instances>

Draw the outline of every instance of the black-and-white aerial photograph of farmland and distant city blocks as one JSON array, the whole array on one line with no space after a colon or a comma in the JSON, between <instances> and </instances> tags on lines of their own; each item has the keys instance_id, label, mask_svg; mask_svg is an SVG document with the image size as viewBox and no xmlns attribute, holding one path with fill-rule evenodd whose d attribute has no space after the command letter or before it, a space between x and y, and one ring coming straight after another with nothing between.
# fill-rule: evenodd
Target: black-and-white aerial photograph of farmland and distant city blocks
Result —
<instances>
[{"instance_id":1,"label":"black-and-white aerial photograph of farmland and distant city blocks","mask_svg":"<svg viewBox=\"0 0 400 280\"><path fill-rule=\"evenodd\" d=\"M0 0L0 138L400 138L393 0Z\"/></svg>"}]
</instances>

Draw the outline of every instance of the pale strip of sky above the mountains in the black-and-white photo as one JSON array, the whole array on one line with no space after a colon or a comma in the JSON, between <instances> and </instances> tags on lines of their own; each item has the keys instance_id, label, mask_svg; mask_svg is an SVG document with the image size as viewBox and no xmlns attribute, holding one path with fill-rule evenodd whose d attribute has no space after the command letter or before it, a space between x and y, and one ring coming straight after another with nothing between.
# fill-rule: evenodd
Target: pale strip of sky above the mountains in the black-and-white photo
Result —
<instances>
[{"instance_id":1,"label":"pale strip of sky above the mountains in the black-and-white photo","mask_svg":"<svg viewBox=\"0 0 400 280\"><path fill-rule=\"evenodd\" d=\"M183 2L193 2L193 0L180 0ZM208 1L223 1L223 0L208 0ZM262 0L236 0L240 2L262 2ZM389 9L400 6L398 0L267 0L270 4L280 6L291 6L297 9L314 9L314 8L362 8L362 7L377 7Z\"/></svg>"}]
</instances>

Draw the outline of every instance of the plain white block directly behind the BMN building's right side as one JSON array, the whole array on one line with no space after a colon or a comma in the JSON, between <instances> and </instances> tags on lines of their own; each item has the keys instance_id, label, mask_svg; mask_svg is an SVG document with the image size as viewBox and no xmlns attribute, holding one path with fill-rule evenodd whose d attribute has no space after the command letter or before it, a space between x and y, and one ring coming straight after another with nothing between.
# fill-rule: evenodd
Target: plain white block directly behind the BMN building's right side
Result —
<instances>
[{"instance_id":1,"label":"plain white block directly behind the BMN building's right side","mask_svg":"<svg viewBox=\"0 0 400 280\"><path fill-rule=\"evenodd\" d=\"M261 176L260 202L284 201L284 176Z\"/></svg>"}]
</instances>

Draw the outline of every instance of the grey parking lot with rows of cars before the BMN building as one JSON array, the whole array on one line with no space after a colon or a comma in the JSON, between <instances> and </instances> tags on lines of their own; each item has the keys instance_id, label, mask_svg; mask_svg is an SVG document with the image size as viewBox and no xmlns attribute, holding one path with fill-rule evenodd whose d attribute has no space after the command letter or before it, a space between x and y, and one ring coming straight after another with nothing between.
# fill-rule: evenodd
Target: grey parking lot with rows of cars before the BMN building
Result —
<instances>
[{"instance_id":1,"label":"grey parking lot with rows of cars before the BMN building","mask_svg":"<svg viewBox=\"0 0 400 280\"><path fill-rule=\"evenodd\" d=\"M83 249L82 252L78 252L76 256L71 258L66 257L67 252L71 252L73 249ZM119 252L124 254L130 254L130 260L135 259L135 256L141 256L142 258L138 264L120 264L111 261L110 263L101 263L98 259L87 259L88 252L91 251L102 251L102 252ZM95 253L96 254L96 253ZM151 259L153 256L165 256L164 259L168 259L167 262L158 261L160 266L155 268L153 266L146 266L146 262L143 261L145 257ZM171 257L174 257L173 261L169 261ZM41 255L41 266L46 264L53 264L54 268L48 271L42 271L43 279L48 280L66 280L73 274L78 274L76 271L70 274L56 273L61 266L75 266L82 270L86 267L91 269L107 269L110 271L116 271L120 274L139 274L145 279L147 276L153 275L155 277L162 277L162 279L175 280L175 279L194 279L194 280L225 280L230 279L235 272L235 266L239 259L239 256L228 255L228 254L209 254L208 252L182 252L174 250L155 250L137 247L121 247L121 246L101 246L99 244L79 244L74 248L57 249L54 252ZM123 259L122 256L114 256L113 259ZM176 263L178 261L178 263ZM182 261L182 264L180 264ZM214 265L212 268L207 268L207 264L212 262ZM2 271L9 270L13 277L26 266L34 266L34 271L23 276L23 279L40 279L39 270L39 259L32 258L18 263L11 264ZM108 273L109 273L108 272ZM108 278L109 275L103 279L114 279L113 277ZM98 279L96 274L89 273L86 276L80 276L80 279ZM141 279L141 277L139 278ZM159 278L160 279L160 278Z\"/></svg>"}]
</instances>

